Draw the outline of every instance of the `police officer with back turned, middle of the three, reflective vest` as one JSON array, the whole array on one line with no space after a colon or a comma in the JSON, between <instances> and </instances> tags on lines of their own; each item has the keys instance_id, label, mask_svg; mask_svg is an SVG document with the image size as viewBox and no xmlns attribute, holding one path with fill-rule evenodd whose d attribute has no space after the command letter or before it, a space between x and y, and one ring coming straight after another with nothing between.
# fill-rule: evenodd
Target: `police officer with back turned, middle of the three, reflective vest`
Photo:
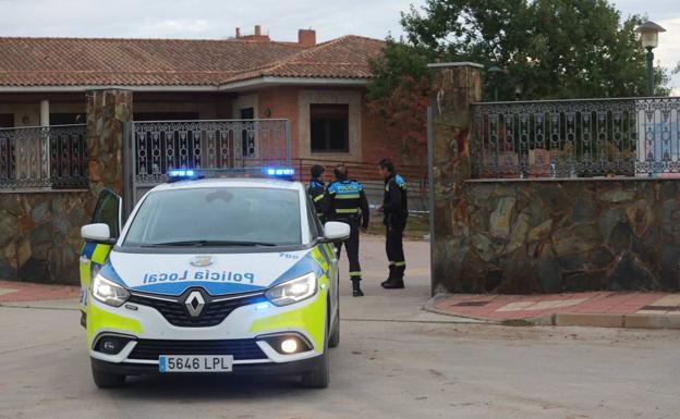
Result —
<instances>
[{"instance_id":1,"label":"police officer with back turned, middle of the three, reflective vest","mask_svg":"<svg viewBox=\"0 0 680 419\"><path fill-rule=\"evenodd\" d=\"M333 170L336 181L328 185L324 199L324 212L328 220L341 221L350 224L350 237L344 241L344 246L350 259L350 279L352 280L352 296L361 297L361 266L359 264L359 227L368 229L369 211L368 200L364 194L364 187L356 181L348 180L348 170L339 164ZM336 245L338 257L342 250L342 243Z\"/></svg>"}]
</instances>

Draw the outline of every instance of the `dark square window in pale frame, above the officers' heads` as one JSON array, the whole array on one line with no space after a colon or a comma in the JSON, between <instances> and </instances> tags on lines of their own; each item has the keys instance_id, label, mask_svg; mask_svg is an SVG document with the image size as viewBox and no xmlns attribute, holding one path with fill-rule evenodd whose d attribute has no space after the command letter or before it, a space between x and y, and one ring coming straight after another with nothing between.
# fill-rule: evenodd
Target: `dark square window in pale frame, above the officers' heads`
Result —
<instances>
[{"instance_id":1,"label":"dark square window in pale frame, above the officers' heads","mask_svg":"<svg viewBox=\"0 0 680 419\"><path fill-rule=\"evenodd\" d=\"M350 151L349 108L349 104L309 104L312 152Z\"/></svg>"}]
</instances>

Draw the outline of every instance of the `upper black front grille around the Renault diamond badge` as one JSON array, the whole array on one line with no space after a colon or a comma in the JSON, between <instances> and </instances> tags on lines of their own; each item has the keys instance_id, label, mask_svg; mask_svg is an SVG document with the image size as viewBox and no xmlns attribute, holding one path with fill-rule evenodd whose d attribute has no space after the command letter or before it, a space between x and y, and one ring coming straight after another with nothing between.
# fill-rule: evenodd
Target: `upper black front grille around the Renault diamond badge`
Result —
<instances>
[{"instance_id":1,"label":"upper black front grille around the Renault diamond badge","mask_svg":"<svg viewBox=\"0 0 680 419\"><path fill-rule=\"evenodd\" d=\"M129 303L138 304L141 306L153 307L172 325L181 328L209 328L218 325L227 316L239 307L252 304L263 303L267 299L263 295L246 296L236 299L227 299L221 301L206 301L203 312L198 317L192 317L186 311L186 307L180 300L168 301L146 297L139 294L130 296Z\"/></svg>"}]
</instances>

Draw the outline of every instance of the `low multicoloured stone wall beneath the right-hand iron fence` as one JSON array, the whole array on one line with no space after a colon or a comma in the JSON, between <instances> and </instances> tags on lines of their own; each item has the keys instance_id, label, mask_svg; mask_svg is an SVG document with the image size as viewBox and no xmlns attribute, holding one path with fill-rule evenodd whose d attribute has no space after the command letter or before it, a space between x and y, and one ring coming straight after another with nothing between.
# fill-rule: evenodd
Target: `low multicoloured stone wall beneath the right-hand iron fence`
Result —
<instances>
[{"instance_id":1,"label":"low multicoloured stone wall beneath the right-hand iron fence","mask_svg":"<svg viewBox=\"0 0 680 419\"><path fill-rule=\"evenodd\" d=\"M679 181L472 181L448 207L435 291L680 289Z\"/></svg>"}]
</instances>

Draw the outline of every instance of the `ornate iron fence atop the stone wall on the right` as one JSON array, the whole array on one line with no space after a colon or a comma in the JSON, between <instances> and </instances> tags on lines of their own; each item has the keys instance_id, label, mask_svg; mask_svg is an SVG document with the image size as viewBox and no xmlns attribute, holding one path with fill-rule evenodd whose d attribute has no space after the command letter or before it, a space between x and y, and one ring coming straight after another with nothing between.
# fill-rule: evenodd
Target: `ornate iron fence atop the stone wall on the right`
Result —
<instances>
[{"instance_id":1,"label":"ornate iron fence atop the stone wall on the right","mask_svg":"<svg viewBox=\"0 0 680 419\"><path fill-rule=\"evenodd\" d=\"M473 106L478 178L680 174L680 98Z\"/></svg>"}]
</instances>

